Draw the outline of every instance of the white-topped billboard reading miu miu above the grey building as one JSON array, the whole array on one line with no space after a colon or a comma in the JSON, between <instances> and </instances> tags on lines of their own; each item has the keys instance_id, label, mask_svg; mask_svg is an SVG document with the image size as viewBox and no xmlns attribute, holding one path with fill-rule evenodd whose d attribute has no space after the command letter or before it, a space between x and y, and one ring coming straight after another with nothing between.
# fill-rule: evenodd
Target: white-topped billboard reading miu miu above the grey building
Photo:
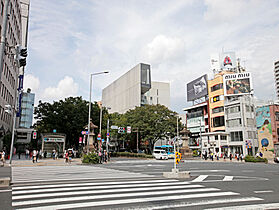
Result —
<instances>
[{"instance_id":1,"label":"white-topped billboard reading miu miu above the grey building","mask_svg":"<svg viewBox=\"0 0 279 210\"><path fill-rule=\"evenodd\" d=\"M252 80L249 72L223 75L224 95L245 95L252 92Z\"/></svg>"}]
</instances>

